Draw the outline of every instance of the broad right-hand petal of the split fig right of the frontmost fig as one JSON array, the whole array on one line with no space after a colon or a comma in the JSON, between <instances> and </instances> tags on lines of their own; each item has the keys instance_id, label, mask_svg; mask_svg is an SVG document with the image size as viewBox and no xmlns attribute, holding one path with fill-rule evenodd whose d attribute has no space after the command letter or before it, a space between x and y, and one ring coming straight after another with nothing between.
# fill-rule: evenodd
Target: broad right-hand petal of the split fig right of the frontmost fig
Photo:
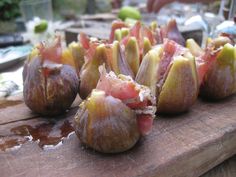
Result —
<instances>
[{"instance_id":1,"label":"broad right-hand petal of the split fig right of the frontmost fig","mask_svg":"<svg viewBox=\"0 0 236 177\"><path fill-rule=\"evenodd\" d=\"M169 69L157 102L157 112L186 111L198 95L197 73L194 59L176 57Z\"/></svg>"}]
</instances>

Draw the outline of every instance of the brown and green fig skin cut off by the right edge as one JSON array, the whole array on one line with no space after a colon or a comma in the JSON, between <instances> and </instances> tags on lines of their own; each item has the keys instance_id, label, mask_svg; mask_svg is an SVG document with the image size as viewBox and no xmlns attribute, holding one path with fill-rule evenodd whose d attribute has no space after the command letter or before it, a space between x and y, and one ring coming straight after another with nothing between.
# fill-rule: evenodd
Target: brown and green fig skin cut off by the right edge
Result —
<instances>
[{"instance_id":1,"label":"brown and green fig skin cut off by the right edge","mask_svg":"<svg viewBox=\"0 0 236 177\"><path fill-rule=\"evenodd\" d=\"M200 95L220 100L236 92L236 48L225 44L204 76Z\"/></svg>"}]
</instances>

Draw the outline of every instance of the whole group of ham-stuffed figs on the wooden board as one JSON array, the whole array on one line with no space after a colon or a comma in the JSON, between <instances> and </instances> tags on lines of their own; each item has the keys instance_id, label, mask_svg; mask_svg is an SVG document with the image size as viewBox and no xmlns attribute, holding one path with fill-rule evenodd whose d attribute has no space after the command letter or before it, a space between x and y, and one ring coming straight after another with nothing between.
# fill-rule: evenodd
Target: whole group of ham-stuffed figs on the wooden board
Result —
<instances>
[{"instance_id":1,"label":"whole group of ham-stuffed figs on the wooden board","mask_svg":"<svg viewBox=\"0 0 236 177\"><path fill-rule=\"evenodd\" d=\"M67 48L60 37L37 45L24 65L24 100L34 112L67 111L84 99L75 132L103 153L132 148L147 135L156 114L189 110L198 95L219 100L236 92L236 46L230 35L202 49L186 42L176 22L164 27L114 21L109 40L81 33ZM185 47L186 45L186 47Z\"/></svg>"}]
</instances>

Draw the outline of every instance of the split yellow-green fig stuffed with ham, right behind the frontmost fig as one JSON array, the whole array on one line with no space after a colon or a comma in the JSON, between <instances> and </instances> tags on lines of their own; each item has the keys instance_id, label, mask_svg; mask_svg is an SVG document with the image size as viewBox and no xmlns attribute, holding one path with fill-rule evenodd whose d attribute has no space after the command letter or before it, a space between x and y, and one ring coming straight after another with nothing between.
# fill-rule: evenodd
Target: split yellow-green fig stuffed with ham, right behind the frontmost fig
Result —
<instances>
[{"instance_id":1,"label":"split yellow-green fig stuffed with ham, right behind the frontmost fig","mask_svg":"<svg viewBox=\"0 0 236 177\"><path fill-rule=\"evenodd\" d=\"M194 57L169 39L144 56L135 80L155 93L158 113L186 111L199 90Z\"/></svg>"}]
</instances>

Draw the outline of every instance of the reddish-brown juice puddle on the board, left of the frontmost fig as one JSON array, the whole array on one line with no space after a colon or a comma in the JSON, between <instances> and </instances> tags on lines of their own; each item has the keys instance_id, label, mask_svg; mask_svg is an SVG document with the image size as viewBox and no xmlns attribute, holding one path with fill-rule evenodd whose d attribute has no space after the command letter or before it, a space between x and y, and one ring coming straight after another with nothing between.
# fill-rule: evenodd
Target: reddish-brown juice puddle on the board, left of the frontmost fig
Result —
<instances>
[{"instance_id":1,"label":"reddish-brown juice puddle on the board, left of the frontmost fig","mask_svg":"<svg viewBox=\"0 0 236 177\"><path fill-rule=\"evenodd\" d=\"M0 141L0 150L5 151L14 148L27 141L37 142L42 149L48 145L56 146L73 131L74 128L69 120L42 123L36 126L17 126L11 129L14 136L5 137L6 140L3 139Z\"/></svg>"}]
</instances>

